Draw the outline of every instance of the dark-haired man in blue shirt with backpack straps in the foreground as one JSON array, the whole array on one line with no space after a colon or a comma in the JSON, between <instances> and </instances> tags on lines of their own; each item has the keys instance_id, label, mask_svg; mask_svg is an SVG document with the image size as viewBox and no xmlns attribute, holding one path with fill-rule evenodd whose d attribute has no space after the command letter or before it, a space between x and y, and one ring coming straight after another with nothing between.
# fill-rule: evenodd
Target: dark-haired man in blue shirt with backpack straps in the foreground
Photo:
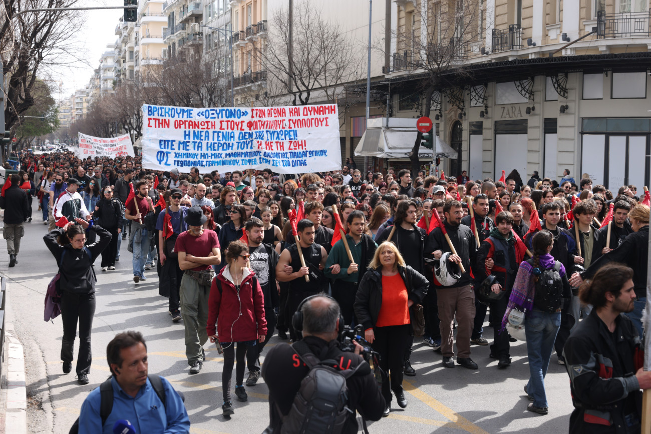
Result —
<instances>
[{"instance_id":1,"label":"dark-haired man in blue shirt with backpack straps in the foreground","mask_svg":"<svg viewBox=\"0 0 651 434\"><path fill-rule=\"evenodd\" d=\"M140 332L119 333L106 347L113 405L102 420L102 386L81 405L79 434L113 434L116 422L128 421L136 433L186 434L190 420L181 396L163 377L147 375L147 347ZM154 386L158 381L162 390ZM161 397L164 399L161 400ZM109 400L110 401L110 400Z\"/></svg>"}]
</instances>

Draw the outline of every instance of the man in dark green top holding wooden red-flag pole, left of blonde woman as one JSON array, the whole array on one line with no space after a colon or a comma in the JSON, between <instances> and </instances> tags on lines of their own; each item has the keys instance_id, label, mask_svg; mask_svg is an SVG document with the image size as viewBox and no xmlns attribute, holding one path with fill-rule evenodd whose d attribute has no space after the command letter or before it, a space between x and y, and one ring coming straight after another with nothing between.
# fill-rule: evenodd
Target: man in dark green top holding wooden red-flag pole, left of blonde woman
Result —
<instances>
[{"instance_id":1,"label":"man in dark green top holding wooden red-flag pole, left of blonde woman","mask_svg":"<svg viewBox=\"0 0 651 434\"><path fill-rule=\"evenodd\" d=\"M327 257L325 274L332 279L332 296L339 303L344 322L352 324L357 288L378 246L364 233L366 220L362 211L352 211L348 215L345 226L348 234L344 232L337 206L333 205L333 211L335 236L332 239L333 248Z\"/></svg>"}]
</instances>

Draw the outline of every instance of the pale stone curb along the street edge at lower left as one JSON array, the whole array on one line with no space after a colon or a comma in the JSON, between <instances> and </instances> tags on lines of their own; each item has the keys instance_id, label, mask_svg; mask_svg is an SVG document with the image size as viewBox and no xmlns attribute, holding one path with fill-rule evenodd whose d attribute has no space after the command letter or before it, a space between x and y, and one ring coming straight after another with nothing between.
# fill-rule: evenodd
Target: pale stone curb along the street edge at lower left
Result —
<instances>
[{"instance_id":1,"label":"pale stone curb along the street edge at lower left","mask_svg":"<svg viewBox=\"0 0 651 434\"><path fill-rule=\"evenodd\" d=\"M12 329L11 325L7 327ZM5 433L27 434L27 388L23 346L7 332L7 414Z\"/></svg>"}]
</instances>

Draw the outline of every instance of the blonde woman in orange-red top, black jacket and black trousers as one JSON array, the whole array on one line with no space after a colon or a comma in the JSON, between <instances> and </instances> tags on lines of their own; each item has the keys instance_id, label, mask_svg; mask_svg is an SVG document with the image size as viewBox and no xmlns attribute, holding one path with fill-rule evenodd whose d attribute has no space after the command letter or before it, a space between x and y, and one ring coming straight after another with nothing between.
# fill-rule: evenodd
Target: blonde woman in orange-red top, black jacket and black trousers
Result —
<instances>
[{"instance_id":1,"label":"blonde woman in orange-red top, black jacket and black trousers","mask_svg":"<svg viewBox=\"0 0 651 434\"><path fill-rule=\"evenodd\" d=\"M405 265L398 248L391 242L380 244L359 282L355 316L364 326L366 340L380 353L382 396L387 403L384 416L389 416L391 411L391 390L398 405L403 409L407 407L402 390L402 369L411 334L409 307L421 303L429 286L423 275Z\"/></svg>"}]
</instances>

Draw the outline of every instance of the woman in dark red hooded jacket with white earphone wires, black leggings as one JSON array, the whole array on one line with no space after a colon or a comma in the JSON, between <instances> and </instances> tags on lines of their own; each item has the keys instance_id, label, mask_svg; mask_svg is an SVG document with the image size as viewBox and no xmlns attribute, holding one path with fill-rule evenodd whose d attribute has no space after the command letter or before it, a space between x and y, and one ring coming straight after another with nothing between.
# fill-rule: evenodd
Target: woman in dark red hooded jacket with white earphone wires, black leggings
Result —
<instances>
[{"instance_id":1,"label":"woman in dark red hooded jacket with white earphone wires, black leggings","mask_svg":"<svg viewBox=\"0 0 651 434\"><path fill-rule=\"evenodd\" d=\"M258 357L256 341L263 342L267 334L264 318L264 296L255 273L247 267L249 247L240 240L231 241L225 252L229 264L212 281L208 297L208 324L206 331L210 342L217 342L224 351L224 368L221 372L221 390L224 416L235 413L230 401L230 377L237 359L235 395L240 401L248 399L244 390L246 360ZM215 323L217 327L215 330ZM237 351L235 344L237 343Z\"/></svg>"}]
</instances>

